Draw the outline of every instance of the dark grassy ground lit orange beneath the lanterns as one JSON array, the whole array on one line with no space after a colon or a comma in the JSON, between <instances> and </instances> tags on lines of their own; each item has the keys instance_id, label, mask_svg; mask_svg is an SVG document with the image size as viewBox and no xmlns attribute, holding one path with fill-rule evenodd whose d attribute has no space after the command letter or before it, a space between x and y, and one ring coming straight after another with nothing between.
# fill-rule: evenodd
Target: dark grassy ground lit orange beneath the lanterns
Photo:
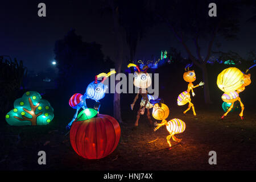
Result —
<instances>
[{"instance_id":1,"label":"dark grassy ground lit orange beneath the lanterns","mask_svg":"<svg viewBox=\"0 0 256 182\"><path fill-rule=\"evenodd\" d=\"M135 115L125 115L121 125L121 140L112 154L104 159L87 160L73 150L65 131L68 120L55 113L49 126L13 127L3 124L0 129L1 170L255 170L256 122L253 110L245 111L241 121L238 113L230 113L225 120L223 111L197 109L198 119L184 108L171 110L168 119L182 119L187 128L168 147L166 127L153 131L143 115L137 128ZM72 115L72 114L71 114ZM173 117L174 116L174 117ZM128 118L128 119L127 119ZM5 121L1 121L4 123ZM155 140L157 139L157 140ZM151 142L155 140L155 142ZM148 143L151 142L151 143ZM47 165L38 165L38 151L46 151ZM209 165L209 151L217 152L217 165Z\"/></svg>"}]
</instances>

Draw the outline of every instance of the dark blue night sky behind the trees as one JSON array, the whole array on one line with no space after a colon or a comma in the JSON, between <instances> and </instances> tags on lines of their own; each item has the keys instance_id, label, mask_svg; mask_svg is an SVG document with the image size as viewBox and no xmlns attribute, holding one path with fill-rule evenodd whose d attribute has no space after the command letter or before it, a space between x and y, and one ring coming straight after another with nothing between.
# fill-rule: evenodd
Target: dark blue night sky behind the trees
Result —
<instances>
[{"instance_id":1,"label":"dark blue night sky behind the trees","mask_svg":"<svg viewBox=\"0 0 256 182\"><path fill-rule=\"evenodd\" d=\"M42 1L0 2L0 55L23 60L29 71L43 71L52 67L56 40L62 39L71 28L75 28L84 42L101 44L104 55L114 59L116 44L112 16L100 14L98 1L43 1L47 8L46 18L38 16L40 2ZM238 39L226 42L217 37L216 42L221 42L222 46L214 46L213 51L232 50L247 57L247 53L256 48L256 24L246 22L251 15L250 7L245 7L241 14ZM126 58L126 55L129 57L129 48L124 43ZM203 40L200 43L204 44ZM192 43L188 43L188 46L195 50ZM175 47L187 57L168 27L164 24L158 25L148 31L138 43L135 59L147 60L152 55L158 58L161 50L168 50L170 47ZM204 51L205 46L201 47Z\"/></svg>"}]
</instances>

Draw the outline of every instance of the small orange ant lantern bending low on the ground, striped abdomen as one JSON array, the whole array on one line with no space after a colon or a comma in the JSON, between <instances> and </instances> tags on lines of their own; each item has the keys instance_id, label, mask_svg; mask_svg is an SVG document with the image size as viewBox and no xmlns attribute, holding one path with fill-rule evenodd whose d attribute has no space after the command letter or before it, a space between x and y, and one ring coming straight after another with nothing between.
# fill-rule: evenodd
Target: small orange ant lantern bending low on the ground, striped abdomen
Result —
<instances>
[{"instance_id":1,"label":"small orange ant lantern bending low on the ground, striped abdomen","mask_svg":"<svg viewBox=\"0 0 256 182\"><path fill-rule=\"evenodd\" d=\"M185 131L185 128L186 128L185 122L182 121L181 119L177 119L177 118L171 119L170 121L166 121L166 118L169 115L168 106L161 103L161 101L159 102L159 100L150 100L150 102L151 102L151 104L154 104L152 116L157 120L162 120L161 123L158 123L158 122L154 123L154 125L156 126L154 128L154 131L158 130L161 126L166 125L166 129L170 133L170 135L168 135L166 137L169 147L172 146L171 138L175 142L181 142L181 139L176 138L174 135L183 133L183 131Z\"/></svg>"}]
</instances>

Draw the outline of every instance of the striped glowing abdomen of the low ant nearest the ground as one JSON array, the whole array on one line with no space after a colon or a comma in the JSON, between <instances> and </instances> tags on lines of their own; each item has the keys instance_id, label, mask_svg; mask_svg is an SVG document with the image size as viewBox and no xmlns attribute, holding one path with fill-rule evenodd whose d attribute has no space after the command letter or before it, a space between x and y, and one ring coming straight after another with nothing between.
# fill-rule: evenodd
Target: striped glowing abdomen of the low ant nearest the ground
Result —
<instances>
[{"instance_id":1,"label":"striped glowing abdomen of the low ant nearest the ground","mask_svg":"<svg viewBox=\"0 0 256 182\"><path fill-rule=\"evenodd\" d=\"M181 119L174 118L167 122L166 129L170 134L183 133L186 129L186 124Z\"/></svg>"}]
</instances>

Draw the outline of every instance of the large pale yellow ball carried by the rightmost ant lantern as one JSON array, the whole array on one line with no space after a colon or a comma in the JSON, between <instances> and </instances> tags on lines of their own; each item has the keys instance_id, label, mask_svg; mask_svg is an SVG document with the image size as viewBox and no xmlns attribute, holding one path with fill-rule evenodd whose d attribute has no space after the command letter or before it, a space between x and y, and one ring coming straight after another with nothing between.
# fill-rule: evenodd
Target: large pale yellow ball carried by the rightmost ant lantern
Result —
<instances>
[{"instance_id":1,"label":"large pale yellow ball carried by the rightmost ant lantern","mask_svg":"<svg viewBox=\"0 0 256 182\"><path fill-rule=\"evenodd\" d=\"M224 69L217 77L217 85L223 92L236 91L243 84L243 73L240 69L230 67Z\"/></svg>"}]
</instances>

